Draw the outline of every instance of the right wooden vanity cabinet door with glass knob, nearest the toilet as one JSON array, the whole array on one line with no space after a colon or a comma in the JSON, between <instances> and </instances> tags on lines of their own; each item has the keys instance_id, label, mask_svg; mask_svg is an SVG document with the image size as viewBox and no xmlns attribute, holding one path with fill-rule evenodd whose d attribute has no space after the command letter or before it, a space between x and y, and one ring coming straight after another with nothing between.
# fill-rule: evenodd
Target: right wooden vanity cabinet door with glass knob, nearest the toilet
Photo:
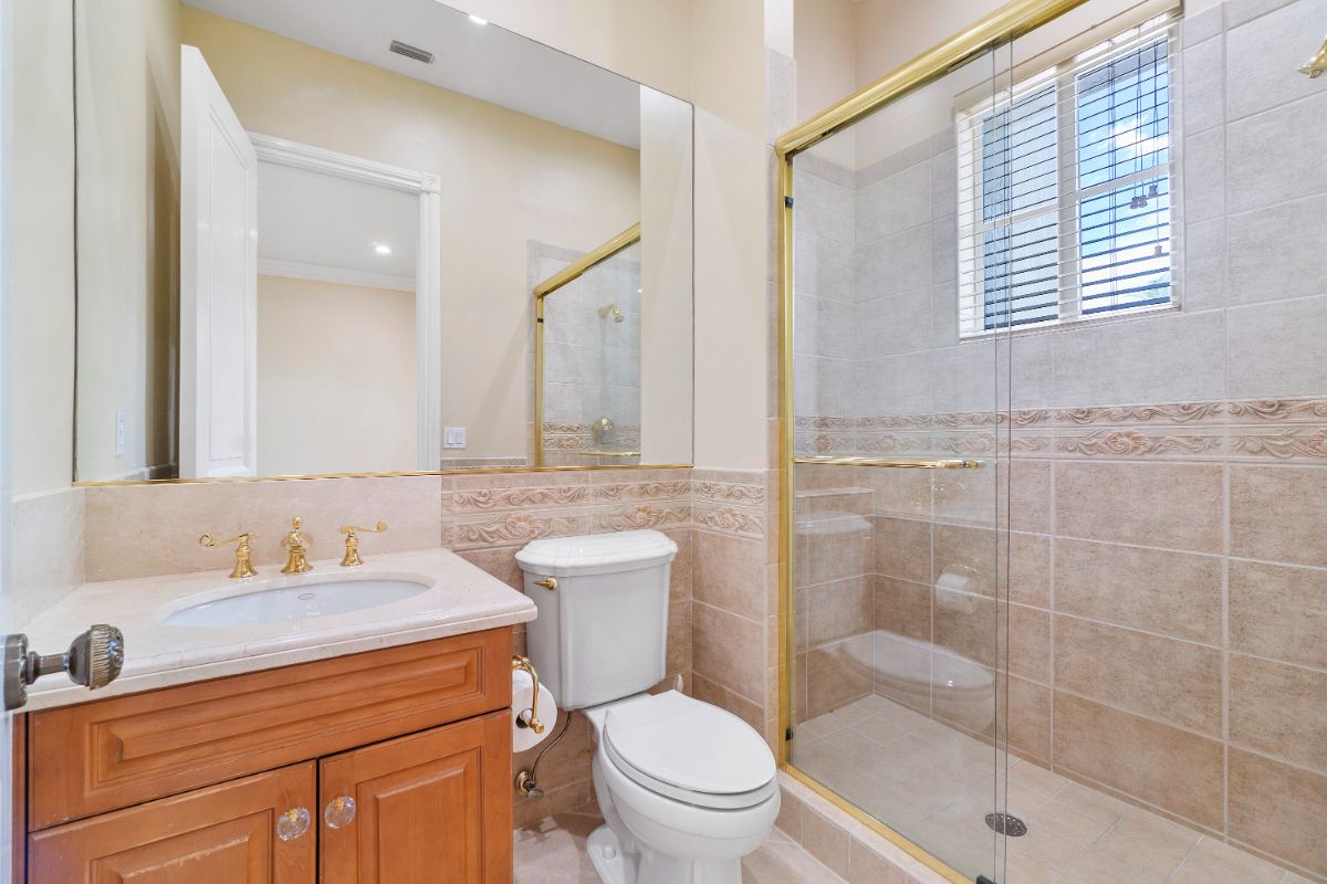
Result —
<instances>
[{"instance_id":1,"label":"right wooden vanity cabinet door with glass knob, nearest the toilet","mask_svg":"<svg viewBox=\"0 0 1327 884\"><path fill-rule=\"evenodd\" d=\"M510 884L510 712L324 758L320 769L322 884Z\"/></svg>"}]
</instances>

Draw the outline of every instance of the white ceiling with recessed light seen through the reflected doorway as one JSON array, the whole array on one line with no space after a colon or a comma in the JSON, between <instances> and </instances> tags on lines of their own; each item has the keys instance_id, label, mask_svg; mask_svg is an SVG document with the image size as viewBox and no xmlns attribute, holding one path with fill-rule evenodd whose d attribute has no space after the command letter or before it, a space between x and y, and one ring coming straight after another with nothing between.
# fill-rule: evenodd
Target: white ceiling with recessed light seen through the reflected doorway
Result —
<instances>
[{"instance_id":1,"label":"white ceiling with recessed light seen through the reflected doorway","mask_svg":"<svg viewBox=\"0 0 1327 884\"><path fill-rule=\"evenodd\" d=\"M257 171L257 257L414 288L419 197L288 166ZM374 245L390 254L378 254ZM260 270L263 268L260 266ZM337 274L333 274L337 276ZM341 273L340 276L349 276Z\"/></svg>"}]
</instances>

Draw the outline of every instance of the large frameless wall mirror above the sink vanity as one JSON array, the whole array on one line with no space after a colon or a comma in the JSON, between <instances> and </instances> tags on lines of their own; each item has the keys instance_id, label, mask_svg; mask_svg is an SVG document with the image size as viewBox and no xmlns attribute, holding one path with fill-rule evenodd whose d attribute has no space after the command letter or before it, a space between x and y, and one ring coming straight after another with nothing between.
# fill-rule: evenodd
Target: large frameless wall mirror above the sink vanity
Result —
<instances>
[{"instance_id":1,"label":"large frameless wall mirror above the sink vanity","mask_svg":"<svg viewBox=\"0 0 1327 884\"><path fill-rule=\"evenodd\" d=\"M690 105L434 0L74 19L80 482L690 463Z\"/></svg>"}]
</instances>

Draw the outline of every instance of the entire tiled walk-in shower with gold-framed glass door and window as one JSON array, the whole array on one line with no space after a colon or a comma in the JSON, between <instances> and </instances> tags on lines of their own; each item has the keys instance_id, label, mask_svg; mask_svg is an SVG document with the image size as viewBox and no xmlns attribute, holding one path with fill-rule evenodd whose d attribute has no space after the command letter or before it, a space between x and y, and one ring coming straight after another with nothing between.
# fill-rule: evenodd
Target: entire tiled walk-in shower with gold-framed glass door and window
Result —
<instances>
[{"instance_id":1,"label":"entire tiled walk-in shower with gold-framed glass door and window","mask_svg":"<svg viewBox=\"0 0 1327 884\"><path fill-rule=\"evenodd\" d=\"M1011 3L776 146L783 761L954 881L1327 881L1324 11Z\"/></svg>"}]
</instances>

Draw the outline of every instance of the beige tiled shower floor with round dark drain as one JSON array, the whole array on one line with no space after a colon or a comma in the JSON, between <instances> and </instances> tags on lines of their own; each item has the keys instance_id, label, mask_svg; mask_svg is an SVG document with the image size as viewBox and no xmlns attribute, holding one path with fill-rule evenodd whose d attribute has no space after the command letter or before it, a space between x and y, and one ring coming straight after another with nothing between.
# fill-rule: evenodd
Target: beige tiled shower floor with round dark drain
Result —
<instances>
[{"instance_id":1,"label":"beige tiled shower floor with round dark drain","mask_svg":"<svg viewBox=\"0 0 1327 884\"><path fill-rule=\"evenodd\" d=\"M880 696L798 725L792 762L963 875L990 875L994 749ZM1011 757L1001 884L1311 884L1308 879Z\"/></svg>"}]
</instances>

